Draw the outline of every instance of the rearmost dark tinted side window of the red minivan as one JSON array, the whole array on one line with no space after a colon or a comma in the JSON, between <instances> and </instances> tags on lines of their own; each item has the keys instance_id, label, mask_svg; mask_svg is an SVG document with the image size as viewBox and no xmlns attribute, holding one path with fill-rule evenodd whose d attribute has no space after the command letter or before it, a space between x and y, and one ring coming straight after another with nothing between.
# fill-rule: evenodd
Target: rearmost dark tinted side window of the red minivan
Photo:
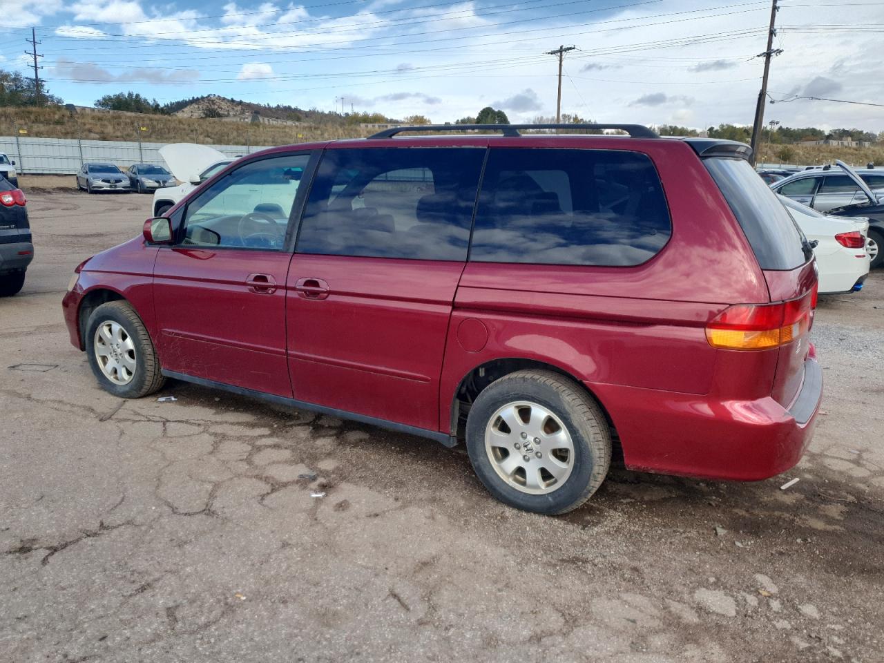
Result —
<instances>
[{"instance_id":1,"label":"rearmost dark tinted side window of the red minivan","mask_svg":"<svg viewBox=\"0 0 884 663\"><path fill-rule=\"evenodd\" d=\"M636 265L663 248L671 232L657 171L645 155L492 149L469 259Z\"/></svg>"}]
</instances>

